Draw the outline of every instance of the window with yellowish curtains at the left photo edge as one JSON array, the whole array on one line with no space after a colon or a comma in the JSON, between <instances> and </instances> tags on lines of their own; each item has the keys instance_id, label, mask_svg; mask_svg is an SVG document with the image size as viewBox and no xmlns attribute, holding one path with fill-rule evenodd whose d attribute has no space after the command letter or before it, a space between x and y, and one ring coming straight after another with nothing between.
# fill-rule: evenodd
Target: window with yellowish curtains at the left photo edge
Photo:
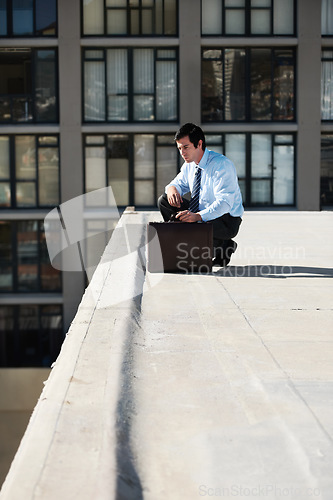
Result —
<instances>
[{"instance_id":1,"label":"window with yellowish curtains at the left photo edge","mask_svg":"<svg viewBox=\"0 0 333 500\"><path fill-rule=\"evenodd\" d=\"M58 205L57 136L0 135L0 208Z\"/></svg>"}]
</instances>

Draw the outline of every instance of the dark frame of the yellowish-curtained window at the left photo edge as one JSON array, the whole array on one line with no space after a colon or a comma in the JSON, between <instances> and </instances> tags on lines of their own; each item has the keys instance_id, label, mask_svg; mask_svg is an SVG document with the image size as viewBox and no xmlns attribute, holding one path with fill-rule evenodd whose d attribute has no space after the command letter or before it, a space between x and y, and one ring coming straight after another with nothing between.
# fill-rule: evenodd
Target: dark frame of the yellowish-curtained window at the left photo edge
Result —
<instances>
[{"instance_id":1,"label":"dark frame of the yellowish-curtained window at the left photo edge","mask_svg":"<svg viewBox=\"0 0 333 500\"><path fill-rule=\"evenodd\" d=\"M61 200L61 165L60 165L60 136L59 134L2 134L0 130L0 137L8 137L9 139L9 178L1 179L0 183L8 182L10 185L10 199L11 204L9 206L0 206L1 210L29 210L36 208L54 208L60 204ZM17 179L16 178L16 152L15 152L15 144L16 137L33 137L35 139L35 152L36 152L36 163L35 163L35 172L36 176L34 179ZM41 145L39 144L39 139L42 137L54 137L57 138L57 144L52 146L50 144ZM55 148L58 151L58 202L56 204L43 205L39 203L39 192L40 192L40 178L39 178L39 151L45 148ZM17 203L16 196L16 186L17 182L34 182L35 190L36 190L36 205L25 205L19 206Z\"/></svg>"}]
</instances>

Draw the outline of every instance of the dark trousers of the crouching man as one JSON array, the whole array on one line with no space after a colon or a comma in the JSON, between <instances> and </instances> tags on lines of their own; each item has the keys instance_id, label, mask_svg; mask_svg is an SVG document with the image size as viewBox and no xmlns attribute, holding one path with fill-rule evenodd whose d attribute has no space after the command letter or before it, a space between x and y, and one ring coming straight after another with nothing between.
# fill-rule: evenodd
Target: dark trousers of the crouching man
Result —
<instances>
[{"instance_id":1,"label":"dark trousers of the crouching man","mask_svg":"<svg viewBox=\"0 0 333 500\"><path fill-rule=\"evenodd\" d=\"M172 207L168 202L167 195L164 193L159 197L157 205L160 209L164 221L170 220L172 214L176 214L181 210L188 210L189 201L183 198L183 203L180 208ZM215 249L222 250L222 256L229 256L230 250L234 249L234 238L239 231L242 219L240 217L232 217L230 214L224 214L210 221L213 223L213 243Z\"/></svg>"}]
</instances>

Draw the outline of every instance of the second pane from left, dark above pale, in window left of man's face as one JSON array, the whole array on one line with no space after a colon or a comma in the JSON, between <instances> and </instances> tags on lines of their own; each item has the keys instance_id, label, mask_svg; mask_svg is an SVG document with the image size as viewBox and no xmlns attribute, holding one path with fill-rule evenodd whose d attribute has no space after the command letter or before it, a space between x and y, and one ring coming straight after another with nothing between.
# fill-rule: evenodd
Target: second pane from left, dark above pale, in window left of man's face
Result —
<instances>
[{"instance_id":1,"label":"second pane from left, dark above pale, in window left of man's face","mask_svg":"<svg viewBox=\"0 0 333 500\"><path fill-rule=\"evenodd\" d=\"M108 137L108 179L117 205L129 204L129 140L127 135Z\"/></svg>"}]
</instances>

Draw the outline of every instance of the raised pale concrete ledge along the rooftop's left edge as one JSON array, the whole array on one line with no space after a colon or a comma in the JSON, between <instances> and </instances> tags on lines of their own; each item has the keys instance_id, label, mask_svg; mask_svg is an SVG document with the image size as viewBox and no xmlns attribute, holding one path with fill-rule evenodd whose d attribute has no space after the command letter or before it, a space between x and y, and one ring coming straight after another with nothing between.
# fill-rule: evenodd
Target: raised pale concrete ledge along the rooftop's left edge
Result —
<instances>
[{"instance_id":1,"label":"raised pale concrete ledge along the rooftop's left edge","mask_svg":"<svg viewBox=\"0 0 333 500\"><path fill-rule=\"evenodd\" d=\"M125 213L87 288L3 484L5 500L115 498L124 364L137 328L147 214ZM130 242L126 227L130 224ZM135 474L130 480L135 481ZM118 493L117 493L118 491Z\"/></svg>"}]
</instances>

